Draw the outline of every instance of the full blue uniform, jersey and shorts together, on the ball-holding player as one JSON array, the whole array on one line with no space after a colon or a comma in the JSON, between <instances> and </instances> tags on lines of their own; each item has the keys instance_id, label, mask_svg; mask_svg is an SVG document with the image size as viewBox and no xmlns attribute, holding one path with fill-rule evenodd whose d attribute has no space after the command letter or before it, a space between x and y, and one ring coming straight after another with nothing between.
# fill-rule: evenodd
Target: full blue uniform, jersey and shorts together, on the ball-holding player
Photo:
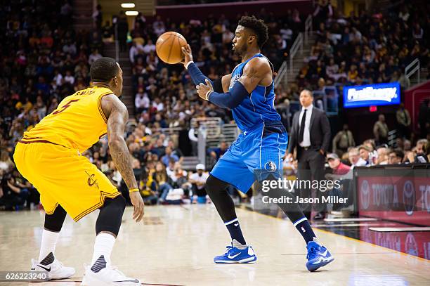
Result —
<instances>
[{"instance_id":1,"label":"full blue uniform, jersey and shorts together, on the ball-holding player","mask_svg":"<svg viewBox=\"0 0 430 286\"><path fill-rule=\"evenodd\" d=\"M252 58L255 57L263 55L257 53ZM230 89L242 76L243 67L249 60L233 70ZM282 157L287 149L288 136L273 106L274 100L272 80L269 86L256 86L249 98L233 108L235 122L244 132L211 171L212 176L230 183L242 193L247 193L255 180L261 181L271 174L275 178L282 176Z\"/></svg>"}]
</instances>

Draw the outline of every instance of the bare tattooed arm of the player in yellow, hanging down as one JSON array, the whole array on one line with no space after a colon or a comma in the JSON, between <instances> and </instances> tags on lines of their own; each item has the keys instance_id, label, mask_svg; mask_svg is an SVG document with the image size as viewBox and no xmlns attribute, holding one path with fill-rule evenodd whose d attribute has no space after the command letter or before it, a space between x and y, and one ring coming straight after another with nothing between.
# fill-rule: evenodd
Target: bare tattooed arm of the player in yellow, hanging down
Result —
<instances>
[{"instance_id":1,"label":"bare tattooed arm of the player in yellow, hanging down","mask_svg":"<svg viewBox=\"0 0 430 286\"><path fill-rule=\"evenodd\" d=\"M107 117L107 141L110 155L129 190L138 190L136 177L131 167L131 156L124 140L125 124L129 112L117 96L110 94L101 100L101 106ZM130 192L130 200L134 206L133 219L141 221L144 214L144 204L138 191Z\"/></svg>"}]
</instances>

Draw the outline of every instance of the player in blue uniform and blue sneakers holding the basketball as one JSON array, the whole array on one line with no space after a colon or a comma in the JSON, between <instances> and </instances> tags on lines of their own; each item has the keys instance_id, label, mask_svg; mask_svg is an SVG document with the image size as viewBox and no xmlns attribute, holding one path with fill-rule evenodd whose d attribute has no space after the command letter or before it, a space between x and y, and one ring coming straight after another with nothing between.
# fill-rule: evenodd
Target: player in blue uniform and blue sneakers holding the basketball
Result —
<instances>
[{"instance_id":1,"label":"player in blue uniform and blue sneakers holding the basketball","mask_svg":"<svg viewBox=\"0 0 430 286\"><path fill-rule=\"evenodd\" d=\"M251 263L256 255L240 230L235 205L226 188L235 186L247 193L256 178L282 177L282 157L288 136L274 108L273 65L260 53L268 39L268 27L254 16L240 19L233 39L233 51L242 58L231 74L211 82L193 63L190 46L182 48L183 64L196 84L200 98L220 108L230 108L237 126L243 131L216 163L206 182L206 191L230 233L232 242L225 254L214 257L215 263ZM256 174L256 176L254 176ZM285 190L271 190L272 197L290 195ZM275 193L273 193L275 192ZM307 244L308 271L329 264L333 257L320 245L311 225L297 204L278 204L299 230Z\"/></svg>"}]
</instances>

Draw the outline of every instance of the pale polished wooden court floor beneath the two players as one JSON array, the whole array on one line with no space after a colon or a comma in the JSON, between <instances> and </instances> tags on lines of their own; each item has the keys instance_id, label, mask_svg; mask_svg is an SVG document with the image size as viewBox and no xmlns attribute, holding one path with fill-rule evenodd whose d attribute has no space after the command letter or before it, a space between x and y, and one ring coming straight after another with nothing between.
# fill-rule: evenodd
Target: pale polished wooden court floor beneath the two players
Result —
<instances>
[{"instance_id":1,"label":"pale polished wooden court floor beneath the two players","mask_svg":"<svg viewBox=\"0 0 430 286\"><path fill-rule=\"evenodd\" d=\"M306 270L306 249L287 220L237 209L255 264L214 264L230 241L211 204L146 207L143 223L126 208L112 264L143 285L430 285L429 260L315 230L334 256L320 271ZM37 258L44 212L0 213L0 271L27 271ZM56 256L77 273L68 280L31 285L79 285L89 264L97 212L79 223L67 217ZM0 285L28 285L0 282Z\"/></svg>"}]
</instances>

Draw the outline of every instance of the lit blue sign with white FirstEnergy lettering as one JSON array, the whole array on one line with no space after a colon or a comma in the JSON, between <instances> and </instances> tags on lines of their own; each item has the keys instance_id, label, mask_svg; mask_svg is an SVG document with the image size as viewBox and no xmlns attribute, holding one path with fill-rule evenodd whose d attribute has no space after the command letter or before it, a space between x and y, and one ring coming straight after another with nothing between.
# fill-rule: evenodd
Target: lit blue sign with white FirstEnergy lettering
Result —
<instances>
[{"instance_id":1,"label":"lit blue sign with white FirstEnergy lettering","mask_svg":"<svg viewBox=\"0 0 430 286\"><path fill-rule=\"evenodd\" d=\"M400 84L369 84L344 86L344 108L360 108L372 105L393 105L400 103Z\"/></svg>"}]
</instances>

